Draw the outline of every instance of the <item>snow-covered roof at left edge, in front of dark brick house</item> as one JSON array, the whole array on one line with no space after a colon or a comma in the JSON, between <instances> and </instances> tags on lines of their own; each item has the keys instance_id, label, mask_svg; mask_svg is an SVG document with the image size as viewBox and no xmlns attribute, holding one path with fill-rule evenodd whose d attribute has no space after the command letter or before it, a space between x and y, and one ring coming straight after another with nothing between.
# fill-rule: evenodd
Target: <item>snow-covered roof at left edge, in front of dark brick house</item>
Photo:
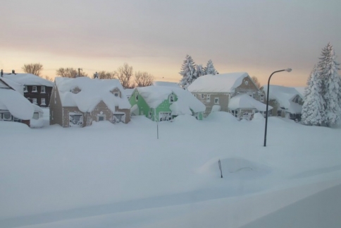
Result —
<instances>
[{"instance_id":1,"label":"snow-covered roof at left edge, in front of dark brick house","mask_svg":"<svg viewBox=\"0 0 341 228\"><path fill-rule=\"evenodd\" d=\"M18 119L31 119L35 108L16 90L0 88L0 109L8 110Z\"/></svg>"}]
</instances>

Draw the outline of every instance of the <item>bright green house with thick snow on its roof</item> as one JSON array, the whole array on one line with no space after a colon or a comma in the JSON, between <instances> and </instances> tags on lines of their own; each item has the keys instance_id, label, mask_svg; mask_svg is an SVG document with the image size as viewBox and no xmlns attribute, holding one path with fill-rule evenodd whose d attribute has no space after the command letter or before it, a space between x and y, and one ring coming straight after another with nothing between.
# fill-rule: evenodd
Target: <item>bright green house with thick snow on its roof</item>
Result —
<instances>
[{"instance_id":1,"label":"bright green house with thick snow on its roof","mask_svg":"<svg viewBox=\"0 0 341 228\"><path fill-rule=\"evenodd\" d=\"M187 90L151 85L136 88L130 97L132 115L144 115L152 121L168 121L190 114L202 119L205 106Z\"/></svg>"}]
</instances>

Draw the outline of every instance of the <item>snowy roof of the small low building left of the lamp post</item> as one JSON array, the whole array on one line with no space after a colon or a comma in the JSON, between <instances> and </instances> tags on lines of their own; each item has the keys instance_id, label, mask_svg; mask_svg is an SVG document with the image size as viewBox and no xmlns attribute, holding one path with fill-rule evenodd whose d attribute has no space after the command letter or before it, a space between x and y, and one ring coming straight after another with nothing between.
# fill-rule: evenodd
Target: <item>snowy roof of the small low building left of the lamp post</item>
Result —
<instances>
[{"instance_id":1,"label":"snowy roof of the small low building left of the lamp post","mask_svg":"<svg viewBox=\"0 0 341 228\"><path fill-rule=\"evenodd\" d=\"M266 104L259 102L258 100L254 100L254 98L250 97L247 94L237 95L231 98L228 103L228 109L257 109L259 111L266 111ZM270 105L268 106L268 110L273 109Z\"/></svg>"}]
</instances>

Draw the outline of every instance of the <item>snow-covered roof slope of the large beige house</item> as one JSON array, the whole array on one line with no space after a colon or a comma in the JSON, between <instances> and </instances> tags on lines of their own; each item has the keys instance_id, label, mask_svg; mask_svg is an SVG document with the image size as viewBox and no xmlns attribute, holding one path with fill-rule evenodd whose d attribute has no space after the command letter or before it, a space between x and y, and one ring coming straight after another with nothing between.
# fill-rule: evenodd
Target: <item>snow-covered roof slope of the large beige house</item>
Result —
<instances>
[{"instance_id":1,"label":"snow-covered roof slope of the large beige house","mask_svg":"<svg viewBox=\"0 0 341 228\"><path fill-rule=\"evenodd\" d=\"M209 74L194 80L187 90L190 92L234 92L247 76L249 74L246 72Z\"/></svg>"}]
</instances>

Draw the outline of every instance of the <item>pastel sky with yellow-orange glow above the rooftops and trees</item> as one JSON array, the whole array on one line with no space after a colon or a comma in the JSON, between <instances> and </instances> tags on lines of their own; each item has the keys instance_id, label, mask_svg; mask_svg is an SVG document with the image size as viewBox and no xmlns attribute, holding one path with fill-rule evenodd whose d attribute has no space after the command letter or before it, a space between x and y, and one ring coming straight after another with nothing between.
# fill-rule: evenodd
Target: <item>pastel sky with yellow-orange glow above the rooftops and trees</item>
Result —
<instances>
[{"instance_id":1,"label":"pastel sky with yellow-orange glow above the rooftops and trees","mask_svg":"<svg viewBox=\"0 0 341 228\"><path fill-rule=\"evenodd\" d=\"M341 55L340 0L11 0L1 2L0 68L115 71L178 81L182 61L303 86L328 42ZM340 57L337 58L340 62Z\"/></svg>"}]
</instances>

